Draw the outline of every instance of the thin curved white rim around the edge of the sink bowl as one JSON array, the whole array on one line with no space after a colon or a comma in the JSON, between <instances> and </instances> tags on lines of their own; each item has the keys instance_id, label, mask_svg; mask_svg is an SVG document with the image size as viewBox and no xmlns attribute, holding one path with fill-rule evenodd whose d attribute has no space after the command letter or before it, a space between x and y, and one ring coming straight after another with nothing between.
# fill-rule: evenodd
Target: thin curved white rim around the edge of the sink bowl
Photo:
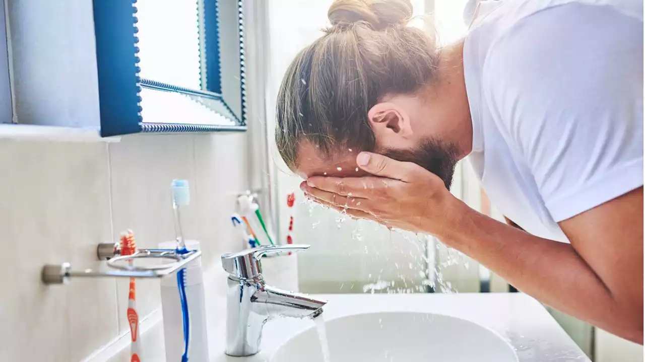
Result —
<instances>
[{"instance_id":1,"label":"thin curved white rim around the edge of the sink bowl","mask_svg":"<svg viewBox=\"0 0 645 362\"><path fill-rule=\"evenodd\" d=\"M429 314L429 315L432 315L432 316L440 316L441 318L446 318L446 319L457 319L460 323L464 323L466 325L472 325L475 328L484 329L487 332L493 334L493 336L497 337L497 339L499 339L499 341L501 341L504 345L506 345L506 347L508 347L508 349L510 350L511 354L513 354L513 357L515 357L515 361L521 361L520 357L517 354L516 348L511 344L510 341L508 341L508 339L504 338L504 336L499 334L496 330L493 330L490 327L488 327L486 325L482 325L482 324L477 323L475 321L471 321L469 319L465 319L465 318L461 318L461 317L457 317L457 316L452 316L450 314L435 313L435 312L420 312L418 310L390 310L390 309L386 309L386 310L381 310L381 311L377 311L377 312L361 311L361 312L356 312L356 313L351 313L351 314L335 315L335 316L332 316L330 319L324 319L324 323L325 323L325 325L327 325L328 323L330 323L332 321L338 321L340 319L355 318L357 316L372 316L372 315L373 316L378 316L379 314L381 314L381 315L382 314L421 314L421 315L422 314ZM324 311L323 311L322 315L324 316ZM313 322L313 319L312 319L312 322ZM273 362L273 359L277 356L277 354L279 354L281 352L281 350L288 343L293 341L293 339L298 338L299 336L302 336L304 333L308 333L308 332L312 332L312 331L315 333L315 329L316 329L316 326L315 326L315 324L313 324L307 329L299 330L298 332L288 336L279 345L275 345L275 347L273 348L270 356L268 356L268 358L266 359L266 362Z\"/></svg>"}]
</instances>

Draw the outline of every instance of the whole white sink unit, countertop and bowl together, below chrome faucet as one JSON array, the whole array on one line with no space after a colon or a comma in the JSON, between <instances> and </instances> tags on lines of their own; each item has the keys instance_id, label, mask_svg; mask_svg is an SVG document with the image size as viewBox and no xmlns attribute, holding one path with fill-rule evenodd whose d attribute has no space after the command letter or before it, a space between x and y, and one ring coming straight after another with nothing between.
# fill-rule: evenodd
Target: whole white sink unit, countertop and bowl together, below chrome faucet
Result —
<instances>
[{"instance_id":1,"label":"whole white sink unit, countertop and bowl together, below chrome faucet","mask_svg":"<svg viewBox=\"0 0 645 362\"><path fill-rule=\"evenodd\" d=\"M323 318L330 362L591 362L540 303L521 293L316 298L329 301ZM311 319L268 321L261 352L249 357L224 355L224 330L208 331L215 342L210 362L323 362Z\"/></svg>"}]
</instances>

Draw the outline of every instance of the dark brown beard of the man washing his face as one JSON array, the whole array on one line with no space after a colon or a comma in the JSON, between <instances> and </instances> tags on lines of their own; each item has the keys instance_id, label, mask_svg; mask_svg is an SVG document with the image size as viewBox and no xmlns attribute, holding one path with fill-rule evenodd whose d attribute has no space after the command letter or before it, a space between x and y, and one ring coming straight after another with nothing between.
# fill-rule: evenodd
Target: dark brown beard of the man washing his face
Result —
<instances>
[{"instance_id":1,"label":"dark brown beard of the man washing his face","mask_svg":"<svg viewBox=\"0 0 645 362\"><path fill-rule=\"evenodd\" d=\"M459 161L457 147L441 144L434 139L424 140L417 149L385 149L381 153L400 162L412 162L439 176L450 190L455 166Z\"/></svg>"}]
</instances>

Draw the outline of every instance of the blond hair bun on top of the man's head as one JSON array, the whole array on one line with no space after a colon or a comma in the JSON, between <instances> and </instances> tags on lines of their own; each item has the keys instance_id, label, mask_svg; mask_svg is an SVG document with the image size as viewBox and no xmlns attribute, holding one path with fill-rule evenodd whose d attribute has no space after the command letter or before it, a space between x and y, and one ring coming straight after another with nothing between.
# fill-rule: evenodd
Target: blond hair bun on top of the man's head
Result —
<instances>
[{"instance_id":1,"label":"blond hair bun on top of the man's head","mask_svg":"<svg viewBox=\"0 0 645 362\"><path fill-rule=\"evenodd\" d=\"M327 12L335 28L367 23L374 30L404 26L412 19L410 0L335 0Z\"/></svg>"}]
</instances>

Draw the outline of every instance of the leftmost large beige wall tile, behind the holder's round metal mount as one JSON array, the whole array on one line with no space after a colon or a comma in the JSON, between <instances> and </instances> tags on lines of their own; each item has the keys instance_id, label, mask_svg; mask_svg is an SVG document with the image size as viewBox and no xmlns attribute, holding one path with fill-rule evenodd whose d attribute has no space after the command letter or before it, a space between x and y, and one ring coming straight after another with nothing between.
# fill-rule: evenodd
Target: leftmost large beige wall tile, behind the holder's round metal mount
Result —
<instances>
[{"instance_id":1,"label":"leftmost large beige wall tile, behind the holder's round metal mount","mask_svg":"<svg viewBox=\"0 0 645 362\"><path fill-rule=\"evenodd\" d=\"M23 256L6 260L0 360L78 360L117 332L114 281L40 281L45 263L93 266L110 240L107 166L105 144L0 142L0 243Z\"/></svg>"}]
</instances>

